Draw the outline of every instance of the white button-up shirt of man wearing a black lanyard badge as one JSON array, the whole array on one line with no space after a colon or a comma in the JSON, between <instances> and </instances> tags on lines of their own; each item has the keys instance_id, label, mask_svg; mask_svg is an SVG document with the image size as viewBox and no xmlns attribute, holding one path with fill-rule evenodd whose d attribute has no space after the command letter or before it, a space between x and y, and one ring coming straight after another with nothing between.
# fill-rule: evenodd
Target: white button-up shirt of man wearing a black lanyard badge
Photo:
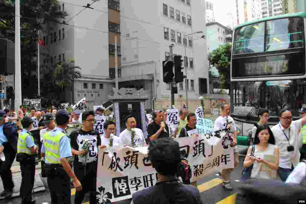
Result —
<instances>
[{"instance_id":1,"label":"white button-up shirt of man wearing a black lanyard badge","mask_svg":"<svg viewBox=\"0 0 306 204\"><path fill-rule=\"evenodd\" d=\"M292 121L290 128L284 129L280 123L274 125L271 130L275 138L275 145L279 148L279 167L291 169L291 164L295 167L300 162L300 151L302 139L300 130L302 128L302 119ZM290 129L290 133L289 133ZM289 142L284 134L287 135ZM290 136L289 136L290 135ZM290 143L290 144L289 144ZM287 147L292 145L294 151L288 152Z\"/></svg>"}]
</instances>

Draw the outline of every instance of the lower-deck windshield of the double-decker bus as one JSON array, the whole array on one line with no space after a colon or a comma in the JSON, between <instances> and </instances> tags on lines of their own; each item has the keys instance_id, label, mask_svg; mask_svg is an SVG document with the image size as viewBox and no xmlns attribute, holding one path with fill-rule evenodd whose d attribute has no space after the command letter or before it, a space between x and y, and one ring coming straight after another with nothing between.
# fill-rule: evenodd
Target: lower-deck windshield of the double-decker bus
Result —
<instances>
[{"instance_id":1,"label":"lower-deck windshield of the double-decker bus","mask_svg":"<svg viewBox=\"0 0 306 204\"><path fill-rule=\"evenodd\" d=\"M278 116L282 108L299 116L298 110L306 105L305 93L306 80L233 82L233 113L235 107L249 106L254 107L252 116L257 116L260 108L269 109L271 116Z\"/></svg>"}]
</instances>

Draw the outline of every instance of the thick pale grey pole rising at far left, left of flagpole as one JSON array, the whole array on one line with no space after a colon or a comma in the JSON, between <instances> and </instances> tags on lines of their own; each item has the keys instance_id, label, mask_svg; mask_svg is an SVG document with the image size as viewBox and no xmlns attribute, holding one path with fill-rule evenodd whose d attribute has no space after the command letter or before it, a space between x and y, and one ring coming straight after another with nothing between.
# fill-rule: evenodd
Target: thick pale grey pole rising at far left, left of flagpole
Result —
<instances>
[{"instance_id":1,"label":"thick pale grey pole rising at far left, left of flagpole","mask_svg":"<svg viewBox=\"0 0 306 204\"><path fill-rule=\"evenodd\" d=\"M20 2L15 1L15 109L21 106Z\"/></svg>"}]
</instances>

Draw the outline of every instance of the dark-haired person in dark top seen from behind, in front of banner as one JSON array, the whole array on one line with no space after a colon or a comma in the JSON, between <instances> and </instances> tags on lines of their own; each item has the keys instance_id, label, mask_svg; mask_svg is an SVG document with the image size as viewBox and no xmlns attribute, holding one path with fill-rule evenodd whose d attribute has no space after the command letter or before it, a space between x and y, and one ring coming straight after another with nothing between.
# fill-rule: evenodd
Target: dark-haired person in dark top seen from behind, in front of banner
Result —
<instances>
[{"instance_id":1,"label":"dark-haired person in dark top seen from behind, in front of banner","mask_svg":"<svg viewBox=\"0 0 306 204\"><path fill-rule=\"evenodd\" d=\"M182 184L177 178L177 169L181 163L177 141L172 138L151 141L148 157L158 172L158 181L155 186L135 192L131 203L202 203L199 190L195 186Z\"/></svg>"}]
</instances>

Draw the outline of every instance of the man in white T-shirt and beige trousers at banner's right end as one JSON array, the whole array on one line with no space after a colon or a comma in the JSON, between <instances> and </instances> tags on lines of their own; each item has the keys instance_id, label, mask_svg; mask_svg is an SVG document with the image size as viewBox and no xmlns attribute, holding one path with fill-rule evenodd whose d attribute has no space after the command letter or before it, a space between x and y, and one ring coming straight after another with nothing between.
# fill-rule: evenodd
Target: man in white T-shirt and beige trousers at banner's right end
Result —
<instances>
[{"instance_id":1,"label":"man in white T-shirt and beige trousers at banner's right end","mask_svg":"<svg viewBox=\"0 0 306 204\"><path fill-rule=\"evenodd\" d=\"M222 115L219 116L215 120L215 131L222 130L222 129L229 129L229 132L231 134L231 147L234 147L234 165L237 167L239 165L239 154L237 149L237 131L236 131L236 125L234 122L234 119L230 117L230 105L228 103L222 103L221 104L221 111ZM231 150L232 151L232 150ZM223 179L222 186L225 190L233 190L233 187L230 184L230 173L234 169L223 169L221 171L221 176Z\"/></svg>"}]
</instances>

